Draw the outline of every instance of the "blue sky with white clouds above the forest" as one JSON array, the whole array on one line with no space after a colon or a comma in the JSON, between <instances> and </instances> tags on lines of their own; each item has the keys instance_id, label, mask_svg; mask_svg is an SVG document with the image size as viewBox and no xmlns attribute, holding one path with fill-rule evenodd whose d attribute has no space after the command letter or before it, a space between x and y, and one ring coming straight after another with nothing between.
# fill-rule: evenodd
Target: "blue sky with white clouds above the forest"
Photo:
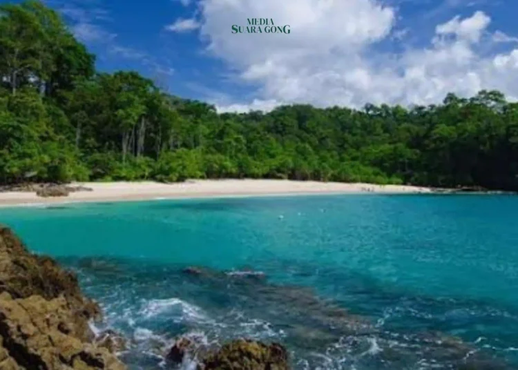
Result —
<instances>
[{"instance_id":1,"label":"blue sky with white clouds above the forest","mask_svg":"<svg viewBox=\"0 0 518 370\"><path fill-rule=\"evenodd\" d=\"M0 0L5 3L6 0ZM97 55L219 111L518 99L516 0L46 0ZM264 18L290 33L232 33Z\"/></svg>"}]
</instances>

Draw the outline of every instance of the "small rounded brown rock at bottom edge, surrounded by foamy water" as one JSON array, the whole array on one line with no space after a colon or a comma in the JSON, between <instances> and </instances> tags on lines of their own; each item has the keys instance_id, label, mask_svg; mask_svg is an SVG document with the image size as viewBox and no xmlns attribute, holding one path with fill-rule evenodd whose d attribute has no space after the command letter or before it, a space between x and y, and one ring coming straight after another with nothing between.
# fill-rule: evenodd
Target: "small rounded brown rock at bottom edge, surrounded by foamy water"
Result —
<instances>
[{"instance_id":1,"label":"small rounded brown rock at bottom edge, surrounded by foamy water","mask_svg":"<svg viewBox=\"0 0 518 370\"><path fill-rule=\"evenodd\" d=\"M205 370L287 370L288 354L280 344L234 340L202 362Z\"/></svg>"}]
</instances>

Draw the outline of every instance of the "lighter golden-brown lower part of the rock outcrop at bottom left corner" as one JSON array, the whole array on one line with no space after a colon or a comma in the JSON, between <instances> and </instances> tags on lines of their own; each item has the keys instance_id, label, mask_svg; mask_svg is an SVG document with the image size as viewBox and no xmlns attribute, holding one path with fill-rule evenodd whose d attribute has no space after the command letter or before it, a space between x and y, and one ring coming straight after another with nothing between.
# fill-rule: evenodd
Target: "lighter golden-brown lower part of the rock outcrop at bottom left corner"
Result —
<instances>
[{"instance_id":1,"label":"lighter golden-brown lower part of the rock outcrop at bottom left corner","mask_svg":"<svg viewBox=\"0 0 518 370\"><path fill-rule=\"evenodd\" d=\"M81 342L81 330L64 297L0 295L0 336L13 369L125 369L107 349Z\"/></svg>"}]
</instances>

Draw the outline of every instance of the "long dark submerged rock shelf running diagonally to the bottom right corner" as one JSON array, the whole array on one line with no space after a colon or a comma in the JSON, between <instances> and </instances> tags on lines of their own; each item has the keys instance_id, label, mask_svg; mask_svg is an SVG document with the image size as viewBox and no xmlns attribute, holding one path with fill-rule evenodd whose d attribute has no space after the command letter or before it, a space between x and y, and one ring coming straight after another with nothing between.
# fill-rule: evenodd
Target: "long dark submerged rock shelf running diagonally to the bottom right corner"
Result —
<instances>
[{"instance_id":1,"label":"long dark submerged rock shelf running diagonally to the bottom right corner","mask_svg":"<svg viewBox=\"0 0 518 370\"><path fill-rule=\"evenodd\" d=\"M320 298L312 289L236 278L228 272L203 267L188 273L195 275L198 284L205 284L209 291L221 292L217 299L231 295L232 304L240 311L254 311L272 329L282 329L283 342L292 346L296 355L298 351L334 352L337 357L347 353L345 361L351 366L356 363L383 369L413 368L421 361L440 364L445 369L510 369L486 351L445 333L391 333L376 327L368 318ZM246 357L243 361L236 360L236 366L246 366L242 365L247 363ZM320 364L316 362L309 364L310 368L317 366ZM222 367L226 368L231 367Z\"/></svg>"}]
</instances>

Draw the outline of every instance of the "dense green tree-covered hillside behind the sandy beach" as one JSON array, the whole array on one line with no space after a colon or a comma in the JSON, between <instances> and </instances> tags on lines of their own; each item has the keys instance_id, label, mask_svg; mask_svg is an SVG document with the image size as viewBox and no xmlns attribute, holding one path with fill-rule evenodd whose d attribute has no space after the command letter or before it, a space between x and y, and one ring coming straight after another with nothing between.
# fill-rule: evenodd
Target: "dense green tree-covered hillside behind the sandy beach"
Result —
<instances>
[{"instance_id":1,"label":"dense green tree-covered hillside behind the sandy beach","mask_svg":"<svg viewBox=\"0 0 518 370\"><path fill-rule=\"evenodd\" d=\"M39 1L0 6L0 183L289 178L518 190L518 104L218 114L95 56Z\"/></svg>"}]
</instances>

